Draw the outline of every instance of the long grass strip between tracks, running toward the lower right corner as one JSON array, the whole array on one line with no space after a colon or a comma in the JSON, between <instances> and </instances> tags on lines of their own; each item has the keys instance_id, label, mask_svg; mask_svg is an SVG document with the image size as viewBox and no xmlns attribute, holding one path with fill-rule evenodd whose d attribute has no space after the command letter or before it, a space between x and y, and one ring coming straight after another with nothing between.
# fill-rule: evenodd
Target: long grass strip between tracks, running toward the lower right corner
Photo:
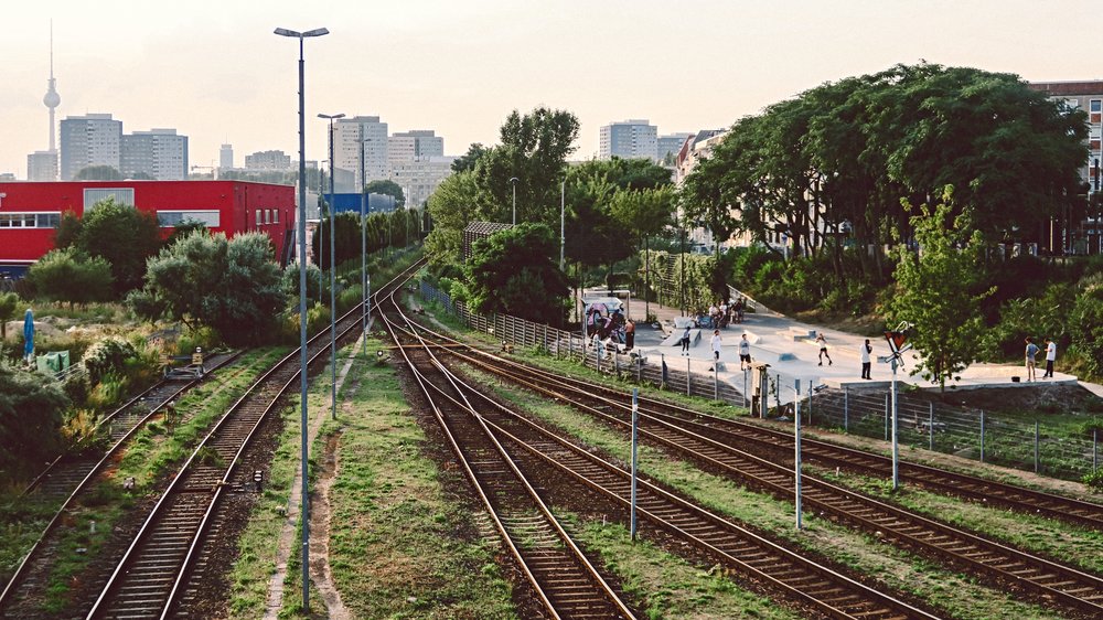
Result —
<instances>
[{"instance_id":1,"label":"long grass strip between tracks, running toward the lower right corner","mask_svg":"<svg viewBox=\"0 0 1103 620\"><path fill-rule=\"evenodd\" d=\"M480 373L473 374L483 380L484 384L493 382L499 385L496 392L501 396L546 423L621 462L629 460L630 445L625 434L613 431L569 407L548 403L525 391L500 386L501 382ZM970 620L1060 617L1039 606L1015 600L1005 592L981 586L971 576L949 571L891 547L875 536L857 533L812 514L804 515L804 530L797 532L793 525L791 503L703 472L692 463L647 446L645 441L639 449L639 460L643 474L676 489L702 505L789 541L799 548L820 553L890 587L910 592L952 617Z\"/></svg>"}]
</instances>

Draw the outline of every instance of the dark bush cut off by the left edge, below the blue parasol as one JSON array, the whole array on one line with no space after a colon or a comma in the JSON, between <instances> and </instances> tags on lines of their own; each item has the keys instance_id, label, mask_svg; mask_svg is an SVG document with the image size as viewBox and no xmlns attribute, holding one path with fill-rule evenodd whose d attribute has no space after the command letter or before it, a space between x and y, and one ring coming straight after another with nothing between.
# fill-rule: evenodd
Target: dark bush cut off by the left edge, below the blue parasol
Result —
<instances>
[{"instance_id":1,"label":"dark bush cut off by the left edge, below the blue parasol","mask_svg":"<svg viewBox=\"0 0 1103 620\"><path fill-rule=\"evenodd\" d=\"M0 470L40 467L56 455L69 402L52 377L0 360Z\"/></svg>"}]
</instances>

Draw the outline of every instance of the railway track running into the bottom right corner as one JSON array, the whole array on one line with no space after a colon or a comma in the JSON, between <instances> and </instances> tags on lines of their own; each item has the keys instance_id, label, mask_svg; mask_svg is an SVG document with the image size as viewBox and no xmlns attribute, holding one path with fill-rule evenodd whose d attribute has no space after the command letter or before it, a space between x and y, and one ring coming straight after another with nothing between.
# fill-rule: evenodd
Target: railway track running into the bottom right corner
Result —
<instances>
[{"instance_id":1,"label":"railway track running into the bottom right corner","mask_svg":"<svg viewBox=\"0 0 1103 620\"><path fill-rule=\"evenodd\" d=\"M486 353L465 355L454 346L447 350L485 372L570 404L625 434L630 432L630 395L536 371ZM703 418L713 424L705 424ZM645 400L640 409L640 435L703 469L736 479L778 499L792 501L795 493L792 464L778 462L788 460L792 463L792 437L788 437L788 459L765 459L739 448L749 443L740 429L750 425L721 424L728 421L661 402ZM758 430L758 427L750 428ZM779 452L783 448L782 443L772 451ZM754 446L754 449L761 450L761 447ZM1051 607L1089 617L1103 616L1103 578L1096 575L914 514L816 477L802 474L801 481L806 509L968 571L989 584L1026 594Z\"/></svg>"}]
</instances>

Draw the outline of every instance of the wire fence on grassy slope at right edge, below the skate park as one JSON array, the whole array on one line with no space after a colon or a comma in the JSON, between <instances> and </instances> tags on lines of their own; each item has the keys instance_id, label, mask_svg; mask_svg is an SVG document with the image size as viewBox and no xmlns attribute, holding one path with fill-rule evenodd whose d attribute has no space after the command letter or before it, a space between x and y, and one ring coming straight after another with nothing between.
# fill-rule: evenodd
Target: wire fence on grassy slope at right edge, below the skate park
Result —
<instances>
[{"instance_id":1,"label":"wire fence on grassy slope at right edge, below the skate park","mask_svg":"<svg viewBox=\"0 0 1103 620\"><path fill-rule=\"evenodd\" d=\"M1099 468L1099 432L1060 434L1039 421L994 416L897 395L898 440L1054 478L1077 480ZM888 389L823 389L811 397L814 424L888 440L892 395ZM804 411L802 410L802 414Z\"/></svg>"}]
</instances>

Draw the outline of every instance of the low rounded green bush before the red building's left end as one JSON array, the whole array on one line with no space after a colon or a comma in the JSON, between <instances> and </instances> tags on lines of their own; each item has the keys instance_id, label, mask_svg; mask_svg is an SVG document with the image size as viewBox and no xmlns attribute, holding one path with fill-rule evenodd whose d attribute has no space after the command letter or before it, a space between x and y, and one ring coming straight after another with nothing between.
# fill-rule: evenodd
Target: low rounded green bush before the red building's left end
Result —
<instances>
[{"instance_id":1,"label":"low rounded green bush before the red building's left end","mask_svg":"<svg viewBox=\"0 0 1103 620\"><path fill-rule=\"evenodd\" d=\"M26 271L35 297L55 301L88 303L111 299L111 266L98 256L67 247L53 249Z\"/></svg>"}]
</instances>

